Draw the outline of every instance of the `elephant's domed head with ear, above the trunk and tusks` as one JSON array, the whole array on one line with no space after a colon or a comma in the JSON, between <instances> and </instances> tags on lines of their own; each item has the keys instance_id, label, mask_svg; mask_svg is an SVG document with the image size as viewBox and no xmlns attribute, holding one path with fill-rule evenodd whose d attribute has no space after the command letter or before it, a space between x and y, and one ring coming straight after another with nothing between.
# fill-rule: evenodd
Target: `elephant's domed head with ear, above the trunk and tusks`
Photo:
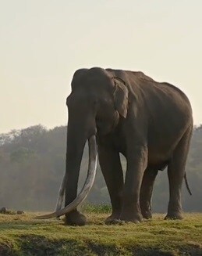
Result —
<instances>
[{"instance_id":1,"label":"elephant's domed head with ear, above the trunk and tusks","mask_svg":"<svg viewBox=\"0 0 202 256\"><path fill-rule=\"evenodd\" d=\"M69 110L68 131L82 125L86 137L111 132L126 117L128 89L121 78L101 68L77 70L73 76L72 92L66 100ZM72 135L71 135L72 136Z\"/></svg>"}]
</instances>

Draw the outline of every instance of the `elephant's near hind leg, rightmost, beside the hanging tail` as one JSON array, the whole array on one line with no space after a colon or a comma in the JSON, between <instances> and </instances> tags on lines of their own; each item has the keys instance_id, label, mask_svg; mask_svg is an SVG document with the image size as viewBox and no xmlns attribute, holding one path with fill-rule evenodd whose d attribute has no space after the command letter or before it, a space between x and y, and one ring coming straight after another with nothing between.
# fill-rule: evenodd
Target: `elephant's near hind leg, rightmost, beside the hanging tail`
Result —
<instances>
[{"instance_id":1,"label":"elephant's near hind leg, rightmost, beside the hanging tail","mask_svg":"<svg viewBox=\"0 0 202 256\"><path fill-rule=\"evenodd\" d=\"M188 129L176 146L172 159L168 164L169 203L165 218L182 219L181 190L185 175L186 158L190 147L192 128Z\"/></svg>"}]
</instances>

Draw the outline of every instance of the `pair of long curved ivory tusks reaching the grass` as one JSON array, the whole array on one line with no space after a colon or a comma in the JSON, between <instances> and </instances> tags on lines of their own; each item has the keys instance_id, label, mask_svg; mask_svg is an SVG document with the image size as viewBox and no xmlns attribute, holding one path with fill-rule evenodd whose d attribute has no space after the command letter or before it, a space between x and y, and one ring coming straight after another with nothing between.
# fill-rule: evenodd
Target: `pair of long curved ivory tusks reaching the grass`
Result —
<instances>
[{"instance_id":1,"label":"pair of long curved ivory tusks reaching the grass","mask_svg":"<svg viewBox=\"0 0 202 256\"><path fill-rule=\"evenodd\" d=\"M87 178L86 178L86 181L84 182L83 188L80 191L80 194L75 198L75 200L73 200L73 202L71 202L69 205L61 209L62 200L65 193L66 179L68 178L65 174L59 189L59 195L58 195L55 212L48 215L37 216L35 218L45 219L45 218L55 218L62 215L66 215L67 213L69 213L69 211L73 211L79 204L83 202L83 200L86 199L88 193L90 192L90 189L94 184L94 178L95 178L96 168L97 168L97 144L96 144L95 135L92 135L90 139L88 139L88 146L89 146L89 162L88 162Z\"/></svg>"}]
</instances>

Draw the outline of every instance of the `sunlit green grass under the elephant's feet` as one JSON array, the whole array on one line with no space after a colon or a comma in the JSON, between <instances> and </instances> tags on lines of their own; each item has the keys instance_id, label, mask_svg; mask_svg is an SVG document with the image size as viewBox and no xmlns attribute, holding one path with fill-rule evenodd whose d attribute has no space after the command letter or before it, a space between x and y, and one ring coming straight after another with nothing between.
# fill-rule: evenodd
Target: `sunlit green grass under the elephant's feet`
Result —
<instances>
[{"instance_id":1,"label":"sunlit green grass under the elephant's feet","mask_svg":"<svg viewBox=\"0 0 202 256\"><path fill-rule=\"evenodd\" d=\"M140 224L105 225L108 207L83 210L88 219L83 227L39 221L36 213L0 215L0 255L202 255L202 214L186 214L183 221L154 215Z\"/></svg>"}]
</instances>

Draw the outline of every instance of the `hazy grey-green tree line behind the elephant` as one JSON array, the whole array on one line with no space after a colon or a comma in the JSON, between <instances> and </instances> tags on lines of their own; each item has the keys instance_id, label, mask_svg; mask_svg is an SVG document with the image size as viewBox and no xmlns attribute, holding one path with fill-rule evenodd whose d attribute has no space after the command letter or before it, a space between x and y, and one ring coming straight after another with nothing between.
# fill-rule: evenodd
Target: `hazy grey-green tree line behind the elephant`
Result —
<instances>
[{"instance_id":1,"label":"hazy grey-green tree line behind the elephant","mask_svg":"<svg viewBox=\"0 0 202 256\"><path fill-rule=\"evenodd\" d=\"M190 196L183 184L184 211L202 211L202 125L193 129L186 173ZM52 211L65 171L66 126L47 129L41 124L0 135L0 207L25 211ZM87 146L83 152L79 190L87 175ZM122 157L126 170L126 160ZM98 166L86 203L109 204L108 190ZM159 171L154 184L153 211L166 212L168 177Z\"/></svg>"}]
</instances>

